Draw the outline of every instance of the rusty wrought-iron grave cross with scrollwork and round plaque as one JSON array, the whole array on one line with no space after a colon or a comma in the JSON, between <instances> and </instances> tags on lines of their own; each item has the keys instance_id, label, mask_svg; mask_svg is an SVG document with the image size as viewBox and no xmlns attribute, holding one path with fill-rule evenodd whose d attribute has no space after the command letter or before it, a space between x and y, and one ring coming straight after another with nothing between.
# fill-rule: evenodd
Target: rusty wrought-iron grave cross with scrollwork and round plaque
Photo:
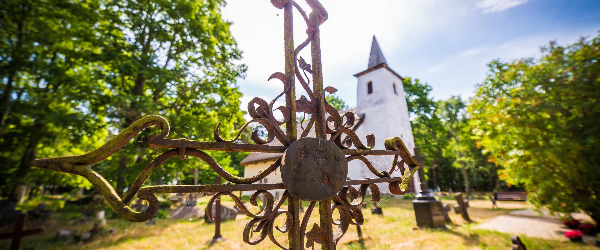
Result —
<instances>
[{"instance_id":1,"label":"rusty wrought-iron grave cross with scrollwork and round plaque","mask_svg":"<svg viewBox=\"0 0 600 250\"><path fill-rule=\"evenodd\" d=\"M280 80L283 83L283 92L271 103L260 98L254 98L248 103L248 113L251 121L247 122L237 132L235 138L227 140L219 134L219 125L214 130L215 141L194 141L167 138L169 135L169 123L162 116L149 115L134 122L127 129L116 135L100 148L84 155L63 156L58 158L37 159L31 164L35 167L47 170L60 171L64 173L83 176L98 189L106 198L107 203L122 218L132 222L148 221L157 214L158 199L155 194L170 193L193 193L193 192L217 192L206 207L208 217L212 219L213 201L227 195L235 201L239 209L252 218L244 228L243 239L245 243L256 245L266 237L269 237L275 245L281 249L304 249L314 248L319 243L322 249L335 249L341 237L346 233L349 225L361 225L364 222L361 209L367 189L370 189L371 200L379 201L379 188L375 183L389 183L392 194L403 195L416 170L423 165L415 161L398 137L385 140L386 150L373 150L375 144L374 136L367 135L367 144L363 144L359 137L352 131L354 114L346 112L340 115L325 100L325 92L330 94L337 91L332 87L323 88L323 73L321 66L321 49L319 41L319 26L327 20L328 14L323 5L317 0L305 0L312 9L309 16L292 0L271 0L271 3L284 10L284 56L285 73L274 73L269 77ZM307 25L307 38L297 47L293 47L292 14L293 8L298 10ZM311 64L298 58L299 52L310 43ZM312 74L312 88L310 80L305 80L306 73ZM296 100L295 79L307 92L308 98L302 95ZM308 82L308 83L307 83ZM286 106L274 109L275 101L285 95ZM283 120L275 119L273 112L278 110L283 114ZM307 125L302 125L302 133L297 134L296 113L310 115ZM329 114L325 117L326 113ZM242 130L248 124L258 122L265 126L268 138L262 140L257 131L252 134L252 140L256 144L239 143L238 138ZM285 125L285 132L281 128ZM153 159L137 176L128 191L119 197L112 185L100 174L86 168L86 165L102 161L112 153L121 149L133 137L143 129L157 126L161 129L158 134L149 137L149 145L155 148L170 149L157 158ZM316 137L307 137L308 132L315 130ZM341 140L342 134L346 137ZM266 145L273 140L279 140L283 146ZM354 146L356 149L350 149ZM261 171L256 176L238 177L224 170L218 162L202 150L225 150L246 152L269 152L283 153L270 167ZM395 155L391 162L389 171L377 171L365 155ZM229 183L223 185L162 185L142 186L152 172L160 167L169 158L194 156L206 162L212 170L217 172ZM400 159L401 158L401 159ZM374 178L347 180L348 161L358 159L374 174ZM400 160L400 161L398 161ZM409 168L405 170L404 164ZM280 168L283 183L257 183L272 171ZM401 177L391 177L395 170L401 171ZM353 186L359 186L358 190ZM274 199L268 190L286 189L279 197ZM239 198L233 194L236 191L255 191L250 197L250 204L258 206L257 198L260 194L266 197L266 206L258 213L251 213ZM148 209L137 212L131 209L130 203L134 196L146 200ZM309 206L301 218L299 212L299 200L310 201ZM283 207L287 201L287 210ZM317 202L319 203L320 224L312 225L307 231L308 219L310 218ZM340 219L333 221L332 213L337 210ZM275 218L280 215L286 216L283 227L274 225ZM256 227L254 227L256 225ZM335 229L334 229L335 227ZM273 229L288 234L288 247L281 245L274 237ZM251 231L259 233L254 239L250 239Z\"/></svg>"}]
</instances>

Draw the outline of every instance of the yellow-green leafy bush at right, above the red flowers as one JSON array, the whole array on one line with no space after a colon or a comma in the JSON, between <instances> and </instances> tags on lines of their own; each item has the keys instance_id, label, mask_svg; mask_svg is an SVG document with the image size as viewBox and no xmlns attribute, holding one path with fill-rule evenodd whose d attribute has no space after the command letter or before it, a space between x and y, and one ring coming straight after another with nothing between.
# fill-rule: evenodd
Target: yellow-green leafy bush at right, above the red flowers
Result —
<instances>
[{"instance_id":1,"label":"yellow-green leafy bush at right, above the red flowers","mask_svg":"<svg viewBox=\"0 0 600 250\"><path fill-rule=\"evenodd\" d=\"M469 104L475 137L537 206L600 222L600 35L493 61Z\"/></svg>"}]
</instances>

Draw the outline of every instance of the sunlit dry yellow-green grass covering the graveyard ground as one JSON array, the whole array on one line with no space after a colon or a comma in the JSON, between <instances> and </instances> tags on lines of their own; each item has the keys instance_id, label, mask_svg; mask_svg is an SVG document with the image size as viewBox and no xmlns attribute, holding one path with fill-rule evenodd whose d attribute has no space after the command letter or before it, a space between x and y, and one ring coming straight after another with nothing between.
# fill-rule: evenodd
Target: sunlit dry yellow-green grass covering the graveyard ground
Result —
<instances>
[{"instance_id":1,"label":"sunlit dry yellow-green grass covering the graveyard ground","mask_svg":"<svg viewBox=\"0 0 600 250\"><path fill-rule=\"evenodd\" d=\"M199 206L205 206L207 197L203 197ZM224 204L232 201L223 198ZM445 201L451 202L451 201ZM368 203L371 204L370 202ZM491 202L487 200L471 201L469 209L475 222L486 221L498 215L509 213L511 210L523 209L527 205L519 202L501 202L502 209L490 209ZM251 206L251 205L249 205ZM509 234L488 230L473 229L475 224L466 224L459 215L451 212L454 224L448 229L418 229L415 214L410 200L382 197L380 207L383 216L371 215L370 210L364 209L365 224L361 226L365 237L364 245L358 243L356 227L350 225L348 231L338 244L338 249L511 249ZM311 216L311 225L317 222L318 209ZM254 211L256 212L256 211ZM337 213L337 212L336 212ZM334 214L334 219L335 219ZM46 222L46 231L38 236L26 237L23 248L35 249L278 249L268 239L258 245L247 245L242 241L245 224L250 220L245 215L238 215L235 221L221 224L221 234L227 239L215 245L208 246L206 242L212 239L214 225L198 221L157 220L156 225L132 223L123 219L110 219L107 227L115 228L115 233L97 237L88 243L52 242L56 230L74 228L85 230L89 225L68 225L66 216L54 213ZM276 225L282 225L284 216L277 219ZM335 227L335 226L334 226ZM515 225L518 227L518 225ZM8 228L2 228L2 231ZM89 229L88 229L89 230ZM287 245L287 234L275 231L275 237L282 245ZM254 236L257 234L255 233ZM521 236L529 249L598 249L590 245L581 245L559 240L539 239ZM0 249L8 248L8 241L0 242Z\"/></svg>"}]
</instances>

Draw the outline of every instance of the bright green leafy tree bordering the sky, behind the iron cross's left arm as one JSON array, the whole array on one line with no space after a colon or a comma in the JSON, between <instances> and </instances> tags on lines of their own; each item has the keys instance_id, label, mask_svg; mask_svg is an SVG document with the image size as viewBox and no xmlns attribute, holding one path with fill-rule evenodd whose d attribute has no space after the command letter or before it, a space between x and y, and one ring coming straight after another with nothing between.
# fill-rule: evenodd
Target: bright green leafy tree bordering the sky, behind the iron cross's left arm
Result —
<instances>
[{"instance_id":1,"label":"bright green leafy tree bordering the sky, behind the iron cross's left arm","mask_svg":"<svg viewBox=\"0 0 600 250\"><path fill-rule=\"evenodd\" d=\"M241 52L229 32L230 23L221 18L223 5L221 0L107 3L114 13L110 46L104 52L108 73L103 80L111 86L107 116L116 129L155 114L170 122L173 137L212 140L219 121L223 121L223 136L244 123L235 80L246 67L234 63L241 59ZM144 132L142 138L148 134ZM128 144L94 167L122 193L159 153ZM236 173L229 153L211 155ZM214 182L217 174L198 159L167 161L151 182L182 181L196 168L206 170L199 176L201 183Z\"/></svg>"}]
</instances>

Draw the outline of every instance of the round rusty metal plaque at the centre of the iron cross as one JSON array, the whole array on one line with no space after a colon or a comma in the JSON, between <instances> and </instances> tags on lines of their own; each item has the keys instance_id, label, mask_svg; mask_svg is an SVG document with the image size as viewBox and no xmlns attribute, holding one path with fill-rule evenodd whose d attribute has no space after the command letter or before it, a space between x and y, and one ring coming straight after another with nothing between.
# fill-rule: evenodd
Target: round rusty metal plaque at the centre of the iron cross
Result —
<instances>
[{"instance_id":1,"label":"round rusty metal plaque at the centre of the iron cross","mask_svg":"<svg viewBox=\"0 0 600 250\"><path fill-rule=\"evenodd\" d=\"M323 138L299 138L283 153L283 185L300 200L319 201L333 197L344 186L347 176L348 162L344 152Z\"/></svg>"}]
</instances>

